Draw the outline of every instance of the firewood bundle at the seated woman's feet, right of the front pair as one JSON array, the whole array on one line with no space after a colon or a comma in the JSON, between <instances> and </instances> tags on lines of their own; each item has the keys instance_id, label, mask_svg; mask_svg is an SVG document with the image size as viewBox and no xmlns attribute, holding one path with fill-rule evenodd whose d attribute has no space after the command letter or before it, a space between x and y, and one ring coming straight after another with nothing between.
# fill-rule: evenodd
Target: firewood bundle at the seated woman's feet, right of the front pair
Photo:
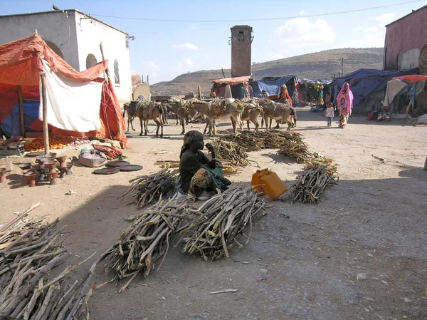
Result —
<instances>
[{"instance_id":1,"label":"firewood bundle at the seated woman's feet, right of the front pair","mask_svg":"<svg viewBox=\"0 0 427 320\"><path fill-rule=\"evenodd\" d=\"M198 252L206 261L228 257L236 239L245 235L246 224L252 228L252 217L265 212L264 202L258 200L251 187L234 186L204 202L196 212L199 217L184 227L183 252ZM249 241L247 236L246 243Z\"/></svg>"}]
</instances>

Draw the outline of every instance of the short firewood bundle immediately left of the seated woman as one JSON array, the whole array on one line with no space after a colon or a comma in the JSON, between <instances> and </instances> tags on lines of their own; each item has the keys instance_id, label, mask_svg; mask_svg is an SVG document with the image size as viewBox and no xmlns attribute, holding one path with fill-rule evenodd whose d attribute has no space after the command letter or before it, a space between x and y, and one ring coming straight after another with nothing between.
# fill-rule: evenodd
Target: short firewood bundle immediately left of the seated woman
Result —
<instances>
[{"instance_id":1,"label":"short firewood bundle immediately left of the seated woman","mask_svg":"<svg viewBox=\"0 0 427 320\"><path fill-rule=\"evenodd\" d=\"M144 207L157 202L162 195L167 195L175 190L176 179L179 171L169 167L152 175L142 175L130 180L131 185L125 195L132 195L138 207Z\"/></svg>"}]
</instances>

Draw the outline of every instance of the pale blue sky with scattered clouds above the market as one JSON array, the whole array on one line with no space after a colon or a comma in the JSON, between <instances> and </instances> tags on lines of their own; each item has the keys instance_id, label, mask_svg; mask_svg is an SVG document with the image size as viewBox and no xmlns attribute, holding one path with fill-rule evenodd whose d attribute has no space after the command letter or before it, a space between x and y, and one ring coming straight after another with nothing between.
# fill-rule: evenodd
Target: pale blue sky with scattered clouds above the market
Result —
<instances>
[{"instance_id":1,"label":"pale blue sky with scattered clouds above the market","mask_svg":"<svg viewBox=\"0 0 427 320\"><path fill-rule=\"evenodd\" d=\"M332 48L383 47L385 25L425 6L427 0L0 0L0 4L0 15L51 11L52 4L78 9L135 36L130 41L132 74L144 79L149 75L154 84L182 73L231 68L228 40L235 25L253 27L253 63Z\"/></svg>"}]
</instances>

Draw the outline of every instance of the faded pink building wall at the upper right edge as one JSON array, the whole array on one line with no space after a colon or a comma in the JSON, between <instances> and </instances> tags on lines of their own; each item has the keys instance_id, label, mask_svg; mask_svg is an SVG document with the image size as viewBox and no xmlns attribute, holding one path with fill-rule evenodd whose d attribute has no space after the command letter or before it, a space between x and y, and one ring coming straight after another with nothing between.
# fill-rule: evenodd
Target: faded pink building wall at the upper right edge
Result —
<instances>
[{"instance_id":1,"label":"faded pink building wall at the upper right edge","mask_svg":"<svg viewBox=\"0 0 427 320\"><path fill-rule=\"evenodd\" d=\"M386 25L384 70L415 67L427 75L427 6Z\"/></svg>"}]
</instances>

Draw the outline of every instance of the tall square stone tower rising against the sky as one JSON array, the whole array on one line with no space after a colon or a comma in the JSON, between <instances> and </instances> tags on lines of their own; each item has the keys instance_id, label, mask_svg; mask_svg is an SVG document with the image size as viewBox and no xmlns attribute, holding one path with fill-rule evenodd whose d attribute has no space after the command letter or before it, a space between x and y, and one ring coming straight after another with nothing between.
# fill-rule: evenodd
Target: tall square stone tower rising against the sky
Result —
<instances>
[{"instance_id":1,"label":"tall square stone tower rising against the sky","mask_svg":"<svg viewBox=\"0 0 427 320\"><path fill-rule=\"evenodd\" d=\"M231 28L231 76L250 76L252 73L251 26L233 26Z\"/></svg>"}]
</instances>

